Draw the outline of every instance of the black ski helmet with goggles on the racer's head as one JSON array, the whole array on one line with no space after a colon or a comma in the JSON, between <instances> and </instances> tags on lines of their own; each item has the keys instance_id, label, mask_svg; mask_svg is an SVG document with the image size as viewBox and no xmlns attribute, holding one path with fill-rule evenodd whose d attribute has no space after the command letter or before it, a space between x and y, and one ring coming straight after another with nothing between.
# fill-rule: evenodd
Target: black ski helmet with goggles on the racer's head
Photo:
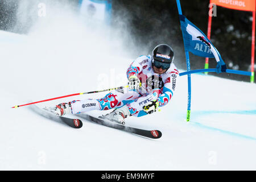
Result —
<instances>
[{"instance_id":1,"label":"black ski helmet with goggles on the racer's head","mask_svg":"<svg viewBox=\"0 0 256 182\"><path fill-rule=\"evenodd\" d=\"M167 44L159 44L152 51L152 64L156 68L168 69L173 60L174 50Z\"/></svg>"}]
</instances>

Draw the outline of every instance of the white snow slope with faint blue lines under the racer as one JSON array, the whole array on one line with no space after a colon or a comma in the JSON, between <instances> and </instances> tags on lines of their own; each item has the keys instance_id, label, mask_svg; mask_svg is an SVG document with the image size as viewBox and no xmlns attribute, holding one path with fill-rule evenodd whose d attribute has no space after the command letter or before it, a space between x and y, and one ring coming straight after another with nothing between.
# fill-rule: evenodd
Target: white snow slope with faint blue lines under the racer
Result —
<instances>
[{"instance_id":1,"label":"white snow slope with faint blue lines under the racer","mask_svg":"<svg viewBox=\"0 0 256 182\"><path fill-rule=\"evenodd\" d=\"M124 49L118 40L111 43L82 27L58 28L29 36L0 31L1 170L256 169L256 85L249 82L192 75L191 122L186 122L187 76L180 77L174 97L162 111L127 118L129 126L162 131L158 140L87 121L76 130L27 106L11 109L126 84L125 72L135 57L121 56Z\"/></svg>"}]
</instances>

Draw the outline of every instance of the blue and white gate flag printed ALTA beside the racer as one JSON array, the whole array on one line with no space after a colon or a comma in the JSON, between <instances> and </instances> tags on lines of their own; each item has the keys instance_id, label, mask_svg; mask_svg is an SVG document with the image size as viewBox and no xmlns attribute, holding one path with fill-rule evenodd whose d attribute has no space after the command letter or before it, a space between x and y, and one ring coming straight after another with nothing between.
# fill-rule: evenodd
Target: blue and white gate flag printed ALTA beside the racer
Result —
<instances>
[{"instance_id":1,"label":"blue and white gate flag printed ALTA beside the racer","mask_svg":"<svg viewBox=\"0 0 256 182\"><path fill-rule=\"evenodd\" d=\"M201 57L214 57L217 61L216 72L225 72L226 64L207 36L184 15L179 15L179 18L181 31L183 32L185 51Z\"/></svg>"}]
</instances>

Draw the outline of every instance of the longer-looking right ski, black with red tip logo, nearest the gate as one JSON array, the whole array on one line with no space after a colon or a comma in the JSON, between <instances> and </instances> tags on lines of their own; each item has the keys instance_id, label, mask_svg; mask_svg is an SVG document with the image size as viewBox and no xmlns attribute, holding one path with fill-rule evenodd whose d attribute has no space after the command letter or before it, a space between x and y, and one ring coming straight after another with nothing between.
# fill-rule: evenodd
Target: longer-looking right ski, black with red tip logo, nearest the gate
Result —
<instances>
[{"instance_id":1,"label":"longer-looking right ski, black with red tip logo, nearest the gate","mask_svg":"<svg viewBox=\"0 0 256 182\"><path fill-rule=\"evenodd\" d=\"M130 127L130 126L125 126L125 125L121 125L112 121L108 121L102 118L97 118L97 117L93 117L92 115L88 115L88 114L77 114L77 116L86 119L90 122L93 123L97 123L103 126L107 126L107 127L112 127L113 129L118 129L118 130L122 130L122 131L126 131L129 133L133 133L133 134L137 134L137 135L141 135L142 137L147 137L147 138L152 138L152 139L157 139L162 137L162 133L159 130L143 130L143 129L138 129L138 128L134 128L134 127Z\"/></svg>"}]
</instances>

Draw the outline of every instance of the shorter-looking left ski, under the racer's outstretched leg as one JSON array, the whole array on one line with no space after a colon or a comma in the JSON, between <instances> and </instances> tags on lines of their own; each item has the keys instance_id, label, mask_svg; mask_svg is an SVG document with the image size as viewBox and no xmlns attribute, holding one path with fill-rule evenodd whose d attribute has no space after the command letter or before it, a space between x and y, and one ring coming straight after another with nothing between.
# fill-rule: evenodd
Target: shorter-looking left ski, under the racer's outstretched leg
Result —
<instances>
[{"instance_id":1,"label":"shorter-looking left ski, under the racer's outstretched leg","mask_svg":"<svg viewBox=\"0 0 256 182\"><path fill-rule=\"evenodd\" d=\"M42 115L43 117L52 119L53 121L57 121L60 123L65 123L68 126L73 127L74 129L80 129L82 127L82 121L80 119L72 119L72 118L62 117L62 116L52 113L47 108L40 108L36 105L31 105L30 109L32 111L34 111L35 113Z\"/></svg>"}]
</instances>

